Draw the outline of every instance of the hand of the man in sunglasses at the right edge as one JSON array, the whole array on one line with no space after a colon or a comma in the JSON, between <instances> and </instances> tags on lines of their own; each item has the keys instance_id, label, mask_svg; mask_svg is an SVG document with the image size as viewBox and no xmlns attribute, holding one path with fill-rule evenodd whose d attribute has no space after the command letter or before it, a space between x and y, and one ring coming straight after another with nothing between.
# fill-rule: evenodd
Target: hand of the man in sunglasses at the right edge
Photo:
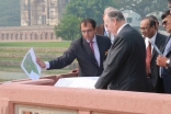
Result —
<instances>
[{"instance_id":1,"label":"hand of the man in sunglasses at the right edge","mask_svg":"<svg viewBox=\"0 0 171 114\"><path fill-rule=\"evenodd\" d=\"M159 55L159 56L157 57L156 62L157 62L157 65L160 66L160 67L166 67L167 60L168 60L167 57Z\"/></svg>"}]
</instances>

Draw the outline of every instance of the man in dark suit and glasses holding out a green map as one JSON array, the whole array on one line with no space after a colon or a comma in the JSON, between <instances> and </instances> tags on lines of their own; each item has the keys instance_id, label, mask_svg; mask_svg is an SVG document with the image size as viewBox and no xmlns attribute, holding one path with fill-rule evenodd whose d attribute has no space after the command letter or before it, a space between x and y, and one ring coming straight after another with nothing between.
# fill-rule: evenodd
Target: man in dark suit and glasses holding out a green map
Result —
<instances>
[{"instance_id":1,"label":"man in dark suit and glasses holding out a green map","mask_svg":"<svg viewBox=\"0 0 171 114\"><path fill-rule=\"evenodd\" d=\"M80 27L82 37L75 39L62 56L44 62L37 58L37 64L45 69L60 69L70 65L75 59L79 64L81 77L100 76L103 71L103 60L105 53L111 47L111 42L106 36L95 35L95 21L84 19Z\"/></svg>"}]
</instances>

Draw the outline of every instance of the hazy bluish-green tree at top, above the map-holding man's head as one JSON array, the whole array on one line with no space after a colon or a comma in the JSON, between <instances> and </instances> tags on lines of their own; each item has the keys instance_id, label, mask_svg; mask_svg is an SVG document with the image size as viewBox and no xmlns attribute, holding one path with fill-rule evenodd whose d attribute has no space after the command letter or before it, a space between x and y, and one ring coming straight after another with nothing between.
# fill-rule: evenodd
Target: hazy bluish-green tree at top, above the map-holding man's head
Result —
<instances>
[{"instance_id":1,"label":"hazy bluish-green tree at top, above the map-holding man's head","mask_svg":"<svg viewBox=\"0 0 171 114\"><path fill-rule=\"evenodd\" d=\"M102 15L106 7L114 7L113 0L70 0L66 5L66 14L75 14L78 18L91 18L98 24L102 24Z\"/></svg>"}]
</instances>

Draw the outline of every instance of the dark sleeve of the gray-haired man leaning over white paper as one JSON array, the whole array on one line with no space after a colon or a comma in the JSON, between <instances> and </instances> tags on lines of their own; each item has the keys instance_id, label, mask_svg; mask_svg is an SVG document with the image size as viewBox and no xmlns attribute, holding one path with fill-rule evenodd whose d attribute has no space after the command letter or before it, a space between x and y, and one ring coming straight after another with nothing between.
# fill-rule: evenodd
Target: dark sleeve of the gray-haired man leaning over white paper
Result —
<instances>
[{"instance_id":1,"label":"dark sleeve of the gray-haired man leaning over white paper","mask_svg":"<svg viewBox=\"0 0 171 114\"><path fill-rule=\"evenodd\" d=\"M122 66L124 66L128 59L128 44L124 38L117 37L109 53L110 54L105 60L106 67L95 83L96 89L105 89L110 82L117 77L117 71L122 70Z\"/></svg>"}]
</instances>

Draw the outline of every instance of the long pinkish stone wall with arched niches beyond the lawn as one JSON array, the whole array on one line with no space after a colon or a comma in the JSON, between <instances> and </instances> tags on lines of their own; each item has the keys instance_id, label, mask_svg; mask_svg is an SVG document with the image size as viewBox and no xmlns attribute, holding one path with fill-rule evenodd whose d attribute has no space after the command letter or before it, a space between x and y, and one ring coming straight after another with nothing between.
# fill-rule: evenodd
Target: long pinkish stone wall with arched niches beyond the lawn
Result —
<instances>
[{"instance_id":1,"label":"long pinkish stone wall with arched niches beyond the lawn","mask_svg":"<svg viewBox=\"0 0 171 114\"><path fill-rule=\"evenodd\" d=\"M0 41L61 41L56 37L55 26L8 26L0 27Z\"/></svg>"}]
</instances>

